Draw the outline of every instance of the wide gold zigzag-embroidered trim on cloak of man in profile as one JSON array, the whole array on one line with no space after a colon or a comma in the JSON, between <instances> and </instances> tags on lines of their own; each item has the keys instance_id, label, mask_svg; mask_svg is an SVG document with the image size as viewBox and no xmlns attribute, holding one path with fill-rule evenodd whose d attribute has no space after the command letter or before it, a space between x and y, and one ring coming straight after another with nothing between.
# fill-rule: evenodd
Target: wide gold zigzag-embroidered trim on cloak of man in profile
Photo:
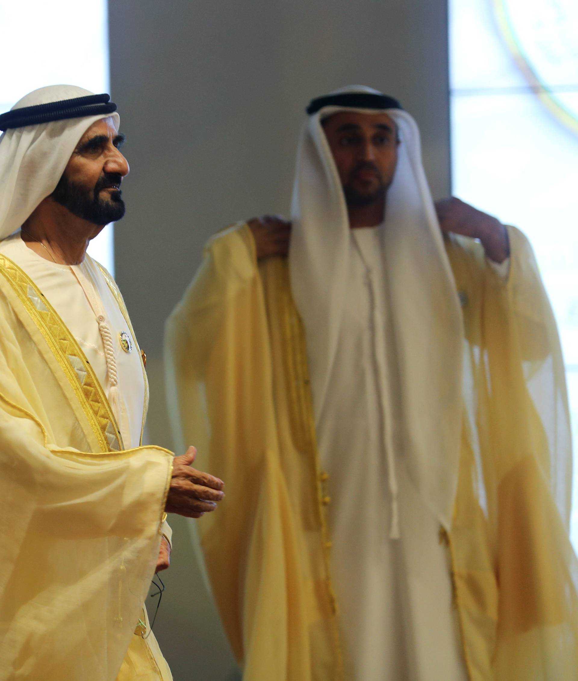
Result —
<instances>
[{"instance_id":1,"label":"wide gold zigzag-embroidered trim on cloak of man in profile","mask_svg":"<svg viewBox=\"0 0 578 681\"><path fill-rule=\"evenodd\" d=\"M93 368L76 338L30 277L0 254L0 273L10 283L67 377L102 452L123 449L121 433Z\"/></svg>"}]
</instances>

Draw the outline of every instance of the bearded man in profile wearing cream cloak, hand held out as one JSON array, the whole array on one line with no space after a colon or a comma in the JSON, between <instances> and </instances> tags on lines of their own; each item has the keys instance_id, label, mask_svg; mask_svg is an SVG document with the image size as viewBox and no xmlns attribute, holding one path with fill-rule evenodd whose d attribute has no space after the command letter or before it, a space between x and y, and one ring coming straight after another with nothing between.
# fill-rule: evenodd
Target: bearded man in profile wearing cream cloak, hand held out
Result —
<instances>
[{"instance_id":1,"label":"bearded man in profile wearing cream cloak, hand held out","mask_svg":"<svg viewBox=\"0 0 578 681\"><path fill-rule=\"evenodd\" d=\"M86 253L123 217L116 105L74 86L0 116L0 678L168 681L144 599L167 512L221 480L142 443L146 355Z\"/></svg>"}]
</instances>

